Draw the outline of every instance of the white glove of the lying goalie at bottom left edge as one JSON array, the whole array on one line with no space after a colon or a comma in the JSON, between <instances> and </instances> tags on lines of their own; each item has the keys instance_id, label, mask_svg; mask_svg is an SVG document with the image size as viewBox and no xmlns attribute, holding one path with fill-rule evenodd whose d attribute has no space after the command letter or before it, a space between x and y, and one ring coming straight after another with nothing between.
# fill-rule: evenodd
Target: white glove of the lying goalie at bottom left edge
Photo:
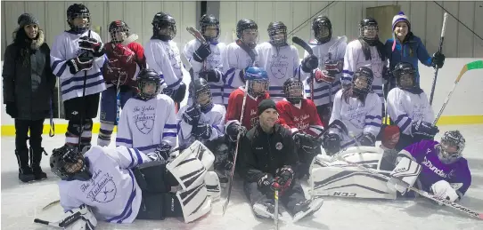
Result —
<instances>
[{"instance_id":1,"label":"white glove of the lying goalie at bottom left edge","mask_svg":"<svg viewBox=\"0 0 483 230\"><path fill-rule=\"evenodd\" d=\"M70 223L70 221L73 222ZM65 212L59 226L66 230L94 230L97 226L97 219L86 204L82 204L78 209Z\"/></svg>"}]
</instances>

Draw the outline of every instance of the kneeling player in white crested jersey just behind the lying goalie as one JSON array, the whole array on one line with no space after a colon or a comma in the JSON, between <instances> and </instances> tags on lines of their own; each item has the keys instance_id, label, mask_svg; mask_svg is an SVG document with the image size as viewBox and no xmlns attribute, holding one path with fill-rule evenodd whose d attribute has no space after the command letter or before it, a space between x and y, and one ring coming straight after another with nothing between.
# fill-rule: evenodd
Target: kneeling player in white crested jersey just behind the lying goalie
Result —
<instances>
[{"instance_id":1,"label":"kneeling player in white crested jersey just behind the lying goalie","mask_svg":"<svg viewBox=\"0 0 483 230\"><path fill-rule=\"evenodd\" d=\"M145 68L137 76L139 92L128 99L119 119L116 146L135 147L168 155L176 147L175 103L160 91L166 87L156 71Z\"/></svg>"}]
</instances>

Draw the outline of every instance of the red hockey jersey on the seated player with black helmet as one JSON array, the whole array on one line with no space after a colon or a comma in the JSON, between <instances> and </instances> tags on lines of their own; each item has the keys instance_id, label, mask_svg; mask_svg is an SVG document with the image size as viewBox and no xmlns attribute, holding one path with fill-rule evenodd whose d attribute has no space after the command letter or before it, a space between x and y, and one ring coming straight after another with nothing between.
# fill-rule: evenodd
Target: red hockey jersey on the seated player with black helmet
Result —
<instances>
[{"instance_id":1,"label":"red hockey jersey on the seated player with black helmet","mask_svg":"<svg viewBox=\"0 0 483 230\"><path fill-rule=\"evenodd\" d=\"M317 114L317 108L310 99L302 99L300 108L282 99L276 104L279 123L288 126L292 133L297 131L317 137L323 131L323 124Z\"/></svg>"}]
</instances>

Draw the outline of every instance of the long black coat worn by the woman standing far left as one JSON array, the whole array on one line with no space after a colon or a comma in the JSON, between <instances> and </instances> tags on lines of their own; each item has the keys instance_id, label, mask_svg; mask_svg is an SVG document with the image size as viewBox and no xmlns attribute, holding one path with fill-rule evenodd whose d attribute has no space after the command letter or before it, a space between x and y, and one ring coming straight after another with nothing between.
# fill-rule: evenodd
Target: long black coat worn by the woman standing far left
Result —
<instances>
[{"instance_id":1,"label":"long black coat worn by the woman standing far left","mask_svg":"<svg viewBox=\"0 0 483 230\"><path fill-rule=\"evenodd\" d=\"M4 104L14 102L18 111L14 118L44 119L49 115L56 81L50 67L50 48L40 29L37 39L31 43L25 42L23 31L17 31L16 35L16 41L4 53Z\"/></svg>"}]
</instances>

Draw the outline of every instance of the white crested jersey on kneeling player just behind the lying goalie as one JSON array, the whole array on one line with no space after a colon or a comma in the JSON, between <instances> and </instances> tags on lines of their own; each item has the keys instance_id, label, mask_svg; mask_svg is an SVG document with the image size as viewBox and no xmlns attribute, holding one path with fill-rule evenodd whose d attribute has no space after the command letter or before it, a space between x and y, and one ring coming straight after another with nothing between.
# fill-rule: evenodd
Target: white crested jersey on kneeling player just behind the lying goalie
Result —
<instances>
[{"instance_id":1,"label":"white crested jersey on kneeling player just behind the lying goalie","mask_svg":"<svg viewBox=\"0 0 483 230\"><path fill-rule=\"evenodd\" d=\"M176 147L175 102L158 94L147 101L128 99L119 118L116 146L135 147L153 152L161 142Z\"/></svg>"}]
</instances>

